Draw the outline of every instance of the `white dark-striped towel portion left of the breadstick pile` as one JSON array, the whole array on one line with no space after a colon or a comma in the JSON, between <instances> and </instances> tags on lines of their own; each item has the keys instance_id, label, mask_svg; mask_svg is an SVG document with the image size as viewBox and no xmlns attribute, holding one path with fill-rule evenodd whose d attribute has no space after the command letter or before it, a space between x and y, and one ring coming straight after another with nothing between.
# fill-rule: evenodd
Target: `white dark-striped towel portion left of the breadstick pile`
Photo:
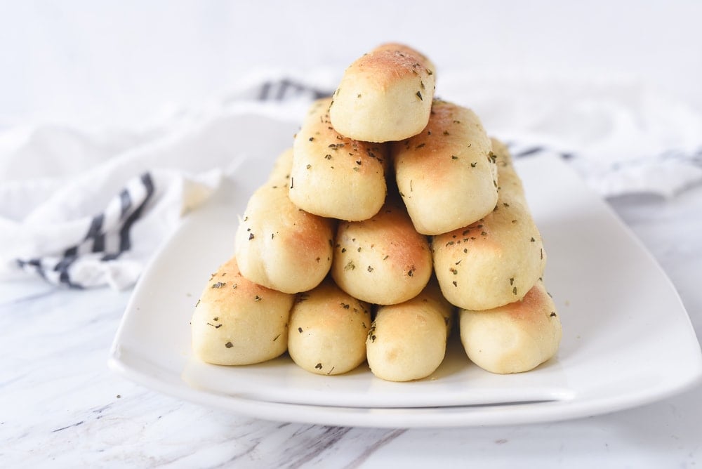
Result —
<instances>
[{"instance_id":1,"label":"white dark-striped towel portion left of the breadstick pile","mask_svg":"<svg viewBox=\"0 0 702 469\"><path fill-rule=\"evenodd\" d=\"M278 151L264 141L258 155L242 154L234 136L271 117L298 120L326 93L270 79L145 129L0 131L0 279L29 274L73 288L127 289L183 214L241 159Z\"/></svg>"}]
</instances>

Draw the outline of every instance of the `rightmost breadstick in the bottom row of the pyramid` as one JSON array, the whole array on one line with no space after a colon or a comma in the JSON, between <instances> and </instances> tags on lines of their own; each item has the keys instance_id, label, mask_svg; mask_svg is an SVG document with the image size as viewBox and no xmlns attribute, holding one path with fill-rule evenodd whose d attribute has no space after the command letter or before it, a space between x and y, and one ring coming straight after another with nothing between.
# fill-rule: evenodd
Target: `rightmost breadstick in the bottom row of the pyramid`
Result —
<instances>
[{"instance_id":1,"label":"rightmost breadstick in the bottom row of the pyramid","mask_svg":"<svg viewBox=\"0 0 702 469\"><path fill-rule=\"evenodd\" d=\"M522 300L486 311L460 310L470 360L493 373L520 373L555 355L562 336L552 298L538 281Z\"/></svg>"}]
</instances>

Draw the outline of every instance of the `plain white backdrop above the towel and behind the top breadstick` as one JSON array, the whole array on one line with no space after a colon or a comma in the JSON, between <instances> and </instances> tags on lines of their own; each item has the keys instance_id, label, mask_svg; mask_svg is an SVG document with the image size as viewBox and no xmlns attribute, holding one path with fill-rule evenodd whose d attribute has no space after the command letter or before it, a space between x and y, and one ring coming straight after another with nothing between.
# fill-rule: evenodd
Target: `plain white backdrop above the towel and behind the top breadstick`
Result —
<instances>
[{"instance_id":1,"label":"plain white backdrop above the towel and behind the top breadstick","mask_svg":"<svg viewBox=\"0 0 702 469\"><path fill-rule=\"evenodd\" d=\"M129 126L259 70L338 73L384 41L441 77L640 82L702 109L702 1L0 0L0 129Z\"/></svg>"}]
</instances>

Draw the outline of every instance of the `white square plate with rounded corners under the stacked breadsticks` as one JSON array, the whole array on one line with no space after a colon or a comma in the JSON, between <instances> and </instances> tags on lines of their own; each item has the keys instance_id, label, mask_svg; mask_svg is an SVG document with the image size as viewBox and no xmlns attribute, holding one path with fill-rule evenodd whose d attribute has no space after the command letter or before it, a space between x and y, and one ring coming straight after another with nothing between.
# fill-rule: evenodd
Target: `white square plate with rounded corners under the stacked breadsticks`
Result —
<instances>
[{"instance_id":1,"label":"white square plate with rounded corners under the stacked breadsticks","mask_svg":"<svg viewBox=\"0 0 702 469\"><path fill-rule=\"evenodd\" d=\"M127 378L272 420L450 427L602 414L663 399L702 376L700 345L668 278L609 206L552 157L515 165L548 251L544 282L564 331L555 359L524 374L491 374L468 361L454 334L439 369L411 383L382 381L366 364L341 376L310 374L287 355L251 366L199 362L190 352L194 305L232 256L237 217L277 157L260 154L260 139L282 151L297 128L256 119L257 131L232 135L241 145L234 178L186 217L135 287L110 355Z\"/></svg>"}]
</instances>

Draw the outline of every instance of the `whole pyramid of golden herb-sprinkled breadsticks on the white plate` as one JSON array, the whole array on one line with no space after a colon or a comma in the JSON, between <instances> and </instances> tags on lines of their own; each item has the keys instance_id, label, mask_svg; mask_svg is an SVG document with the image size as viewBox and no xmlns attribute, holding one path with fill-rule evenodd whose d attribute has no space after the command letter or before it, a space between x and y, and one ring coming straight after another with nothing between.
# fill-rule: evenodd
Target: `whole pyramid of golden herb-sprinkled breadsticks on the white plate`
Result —
<instances>
[{"instance_id":1,"label":"whole pyramid of golden herb-sprinkled breadsticks on the white plate","mask_svg":"<svg viewBox=\"0 0 702 469\"><path fill-rule=\"evenodd\" d=\"M507 148L435 98L424 55L385 44L317 100L241 214L192 317L204 362L285 352L336 375L430 376L458 322L468 358L534 369L561 339L546 254Z\"/></svg>"}]
</instances>

